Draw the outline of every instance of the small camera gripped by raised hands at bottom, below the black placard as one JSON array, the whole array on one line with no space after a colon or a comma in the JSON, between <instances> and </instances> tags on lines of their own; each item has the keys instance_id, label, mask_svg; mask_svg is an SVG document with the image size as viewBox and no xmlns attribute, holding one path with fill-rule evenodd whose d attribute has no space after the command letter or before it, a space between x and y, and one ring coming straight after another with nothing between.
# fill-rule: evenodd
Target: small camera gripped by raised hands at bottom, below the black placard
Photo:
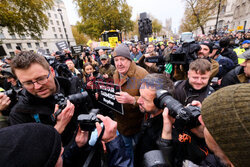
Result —
<instances>
[{"instance_id":1,"label":"small camera gripped by raised hands at bottom, below the black placard","mask_svg":"<svg viewBox=\"0 0 250 167\"><path fill-rule=\"evenodd\" d=\"M81 114L77 117L77 122L81 130L92 132L96 128L96 122L102 122L96 117L99 109L92 109L89 114Z\"/></svg>"}]
</instances>

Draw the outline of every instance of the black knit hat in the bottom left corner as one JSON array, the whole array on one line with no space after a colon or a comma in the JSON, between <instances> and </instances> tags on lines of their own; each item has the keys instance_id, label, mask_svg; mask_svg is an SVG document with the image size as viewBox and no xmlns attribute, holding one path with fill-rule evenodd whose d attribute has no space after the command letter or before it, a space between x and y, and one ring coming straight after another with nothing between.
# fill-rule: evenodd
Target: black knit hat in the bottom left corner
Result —
<instances>
[{"instance_id":1,"label":"black knit hat in the bottom left corner","mask_svg":"<svg viewBox=\"0 0 250 167\"><path fill-rule=\"evenodd\" d=\"M52 127L27 123L0 129L0 166L54 167L61 138Z\"/></svg>"}]
</instances>

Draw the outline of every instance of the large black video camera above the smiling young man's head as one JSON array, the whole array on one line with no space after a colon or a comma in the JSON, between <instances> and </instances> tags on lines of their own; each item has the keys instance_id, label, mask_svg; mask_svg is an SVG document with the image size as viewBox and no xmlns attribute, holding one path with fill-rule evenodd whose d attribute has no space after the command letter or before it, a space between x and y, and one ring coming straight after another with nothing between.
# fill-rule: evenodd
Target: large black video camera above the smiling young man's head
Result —
<instances>
[{"instance_id":1,"label":"large black video camera above the smiling young man's head","mask_svg":"<svg viewBox=\"0 0 250 167\"><path fill-rule=\"evenodd\" d=\"M186 42L175 53L170 54L170 63L177 65L189 65L198 58L197 52L201 49L195 42Z\"/></svg>"}]
</instances>

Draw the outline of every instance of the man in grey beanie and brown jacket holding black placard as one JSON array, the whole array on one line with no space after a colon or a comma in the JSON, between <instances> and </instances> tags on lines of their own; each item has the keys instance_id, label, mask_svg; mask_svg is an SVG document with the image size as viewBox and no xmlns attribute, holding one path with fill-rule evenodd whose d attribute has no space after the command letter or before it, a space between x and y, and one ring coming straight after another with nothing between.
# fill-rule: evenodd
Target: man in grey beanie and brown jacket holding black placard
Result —
<instances>
[{"instance_id":1,"label":"man in grey beanie and brown jacket holding black placard","mask_svg":"<svg viewBox=\"0 0 250 167\"><path fill-rule=\"evenodd\" d=\"M116 71L113 75L114 83L121 86L121 92L116 94L116 100L123 104L124 115L114 113L118 123L118 131L122 135L128 153L133 156L132 143L136 144L138 132L143 121L143 114L136 103L140 93L141 80L148 72L131 60L129 48L118 45L114 50Z\"/></svg>"}]
</instances>

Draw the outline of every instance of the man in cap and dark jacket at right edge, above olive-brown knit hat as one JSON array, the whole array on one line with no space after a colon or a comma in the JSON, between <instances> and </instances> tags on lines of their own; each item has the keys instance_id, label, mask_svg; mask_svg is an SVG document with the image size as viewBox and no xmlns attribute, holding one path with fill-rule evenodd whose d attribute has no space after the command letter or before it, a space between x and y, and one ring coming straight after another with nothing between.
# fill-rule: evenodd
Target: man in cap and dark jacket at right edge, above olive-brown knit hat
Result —
<instances>
[{"instance_id":1,"label":"man in cap and dark jacket at right edge, above olive-brown knit hat","mask_svg":"<svg viewBox=\"0 0 250 167\"><path fill-rule=\"evenodd\" d=\"M239 55L239 58L245 59L245 61L223 77L221 87L238 83L250 83L250 49Z\"/></svg>"}]
</instances>

